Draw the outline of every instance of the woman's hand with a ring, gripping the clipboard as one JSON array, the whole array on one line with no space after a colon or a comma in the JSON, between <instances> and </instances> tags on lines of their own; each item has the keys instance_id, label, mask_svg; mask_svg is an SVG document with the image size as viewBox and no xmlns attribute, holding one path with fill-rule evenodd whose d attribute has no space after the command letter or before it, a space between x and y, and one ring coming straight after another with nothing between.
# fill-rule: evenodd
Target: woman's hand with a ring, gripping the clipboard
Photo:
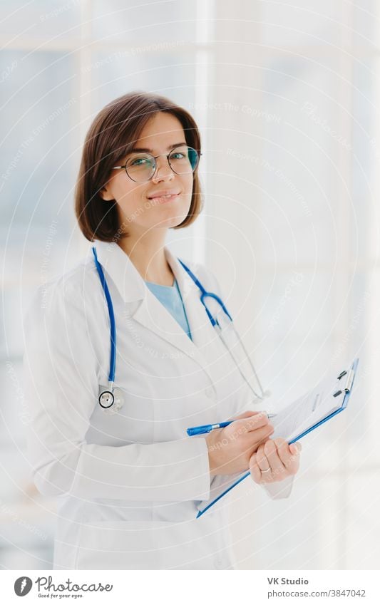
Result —
<instances>
[{"instance_id":1,"label":"woman's hand with a ring, gripping the clipboard","mask_svg":"<svg viewBox=\"0 0 380 605\"><path fill-rule=\"evenodd\" d=\"M299 452L302 445L297 441L288 445L284 439L268 439L250 457L250 472L255 483L274 483L295 475L299 469Z\"/></svg>"}]
</instances>

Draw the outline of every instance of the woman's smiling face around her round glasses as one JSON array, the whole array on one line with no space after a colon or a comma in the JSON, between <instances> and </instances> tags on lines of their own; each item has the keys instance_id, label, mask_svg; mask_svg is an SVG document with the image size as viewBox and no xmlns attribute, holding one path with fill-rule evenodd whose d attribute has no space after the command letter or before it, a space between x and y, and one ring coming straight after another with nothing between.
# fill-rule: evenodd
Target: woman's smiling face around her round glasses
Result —
<instances>
[{"instance_id":1,"label":"woman's smiling face around her round glasses","mask_svg":"<svg viewBox=\"0 0 380 605\"><path fill-rule=\"evenodd\" d=\"M183 127L175 115L158 112L145 125L135 148L149 150L156 159L157 170L152 180L135 182L125 170L112 170L106 187L101 190L103 200L116 200L119 228L129 234L141 235L150 229L175 227L188 215L192 196L192 172L177 175L165 157L175 145L185 144ZM165 154L165 155L161 155ZM127 155L118 165L124 165ZM165 199L164 192L175 194Z\"/></svg>"}]
</instances>

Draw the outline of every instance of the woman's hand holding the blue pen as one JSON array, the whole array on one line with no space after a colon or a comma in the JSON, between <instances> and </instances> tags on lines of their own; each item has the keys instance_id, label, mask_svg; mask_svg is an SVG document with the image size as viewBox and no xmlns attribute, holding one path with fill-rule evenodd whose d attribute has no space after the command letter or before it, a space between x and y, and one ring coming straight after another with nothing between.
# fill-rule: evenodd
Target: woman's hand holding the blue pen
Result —
<instances>
[{"instance_id":1,"label":"woman's hand holding the blue pen","mask_svg":"<svg viewBox=\"0 0 380 605\"><path fill-rule=\"evenodd\" d=\"M208 433L210 475L232 475L250 467L250 457L260 443L265 443L274 428L265 412L245 412L225 428Z\"/></svg>"}]
</instances>

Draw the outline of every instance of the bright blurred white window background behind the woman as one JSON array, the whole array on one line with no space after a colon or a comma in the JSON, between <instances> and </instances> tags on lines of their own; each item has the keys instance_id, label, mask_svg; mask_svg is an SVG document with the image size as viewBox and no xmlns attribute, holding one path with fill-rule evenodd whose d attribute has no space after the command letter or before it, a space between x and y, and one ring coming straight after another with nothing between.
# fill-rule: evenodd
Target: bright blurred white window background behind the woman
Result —
<instances>
[{"instance_id":1,"label":"bright blurred white window background behind the woman","mask_svg":"<svg viewBox=\"0 0 380 605\"><path fill-rule=\"evenodd\" d=\"M51 568L29 476L22 318L88 250L86 130L128 91L202 134L202 215L173 251L220 281L274 405L360 357L349 408L303 440L292 497L229 508L240 569L379 569L380 31L375 0L2 0L0 568Z\"/></svg>"}]
</instances>

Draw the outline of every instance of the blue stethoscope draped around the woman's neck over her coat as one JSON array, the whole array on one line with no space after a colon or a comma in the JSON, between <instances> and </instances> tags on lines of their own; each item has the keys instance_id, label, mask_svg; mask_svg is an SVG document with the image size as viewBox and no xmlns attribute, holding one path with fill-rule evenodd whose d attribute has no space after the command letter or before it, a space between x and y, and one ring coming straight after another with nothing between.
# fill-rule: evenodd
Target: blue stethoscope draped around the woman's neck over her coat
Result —
<instances>
[{"instance_id":1,"label":"blue stethoscope draped around the woman's neck over her coat","mask_svg":"<svg viewBox=\"0 0 380 605\"><path fill-rule=\"evenodd\" d=\"M104 295L106 296L106 302L107 302L107 306L108 306L108 315L110 318L110 333L111 333L111 356L110 356L110 372L108 375L108 386L99 387L98 402L99 402L99 405L101 405L101 408L103 408L103 410L105 412L117 413L123 407L124 395L123 395L123 391L121 391L120 388L117 388L114 386L115 368L116 368L115 314L113 312L111 294L108 289L108 284L106 281L106 277L104 276L103 268L102 268L100 262L98 261L98 256L96 254L96 248L93 247L92 251L93 251L93 257L95 259L96 269L98 270L98 276L99 276L99 279L101 280L101 284L103 286ZM255 397L257 399L263 400L266 397L269 397L269 395L270 395L269 391L263 391L263 389L262 389L262 385L260 383L259 377L257 376L255 366L253 365L253 363L250 359L250 356L247 353L247 349L245 348L239 334L237 333L237 331L235 329L234 323L232 321L232 317L230 316L229 312L227 311L222 299L220 299L220 297L217 296L217 294L214 294L213 292L207 292L205 290L205 288L202 286L202 284L200 283L199 279L197 279L197 277L189 269L189 267L187 267L185 265L185 263L182 262L180 259L178 259L178 260L179 260L180 264L183 266L183 268L185 269L185 271L188 273L188 275L191 277L192 281L194 281L195 285L200 289L200 292L201 292L200 301L201 301L202 305L205 307L208 319L210 320L212 327L217 331L218 336L220 337L222 343L227 348L227 351L230 353L242 378L245 380L245 382L250 387L252 393L255 395ZM205 299L207 297L209 299L214 299L215 301L217 301L217 303L220 305L222 311L224 311L224 314L225 314L224 317L225 317L225 320L227 323L222 321L222 316L220 317L220 319L215 319L215 317L212 316L210 309L208 309L207 304L205 304ZM252 369L252 372L253 372L255 379L257 381L257 384L259 386L260 393L257 393L257 391L252 387L250 381L247 380L247 377L245 376L245 374L242 372L242 369L240 368L239 361L237 361L235 354L232 352L232 349L230 348L230 346L228 346L227 341L225 341L224 331L227 329L233 330L233 332L235 334L235 339L236 339L237 343L239 344L239 346L242 348L242 351L245 354L245 358L247 359L247 361L250 364L250 368Z\"/></svg>"}]
</instances>

